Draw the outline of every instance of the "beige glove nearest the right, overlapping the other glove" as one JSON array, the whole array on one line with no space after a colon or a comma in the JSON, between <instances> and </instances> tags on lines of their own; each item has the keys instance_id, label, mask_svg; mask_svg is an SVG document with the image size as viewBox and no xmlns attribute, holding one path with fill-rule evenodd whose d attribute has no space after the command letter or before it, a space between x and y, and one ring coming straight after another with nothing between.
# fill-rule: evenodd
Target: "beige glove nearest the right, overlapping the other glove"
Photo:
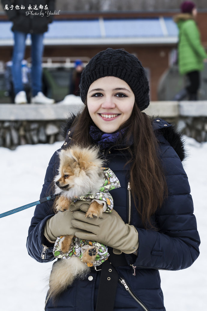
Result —
<instances>
[{"instance_id":1,"label":"beige glove nearest the right, overlapping the other glove","mask_svg":"<svg viewBox=\"0 0 207 311\"><path fill-rule=\"evenodd\" d=\"M86 204L80 205L86 211ZM114 248L114 253L130 254L139 245L138 232L133 225L125 224L119 214L112 210L103 213L101 218L85 218L82 211L74 211L71 224L75 229L75 236L80 239L97 241ZM117 251L119 250L119 251Z\"/></svg>"}]
</instances>

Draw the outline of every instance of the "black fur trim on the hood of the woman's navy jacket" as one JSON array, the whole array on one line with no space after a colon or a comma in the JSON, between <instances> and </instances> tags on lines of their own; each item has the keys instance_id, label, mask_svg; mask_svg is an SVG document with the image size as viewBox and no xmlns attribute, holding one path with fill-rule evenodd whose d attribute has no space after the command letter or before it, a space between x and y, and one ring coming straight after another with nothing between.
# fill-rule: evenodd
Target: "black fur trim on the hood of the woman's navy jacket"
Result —
<instances>
[{"instance_id":1,"label":"black fur trim on the hood of the woman's navy jacket","mask_svg":"<svg viewBox=\"0 0 207 311\"><path fill-rule=\"evenodd\" d=\"M67 136L68 131L70 130L75 118L76 115L70 113L65 122L62 123L61 135L64 139ZM158 141L165 144L169 143L169 145L172 146L175 152L178 154L180 160L183 161L186 158L184 139L182 137L182 134L176 130L176 126L174 124L170 124L164 121L161 118L154 119L152 126L155 135L158 138Z\"/></svg>"}]
</instances>

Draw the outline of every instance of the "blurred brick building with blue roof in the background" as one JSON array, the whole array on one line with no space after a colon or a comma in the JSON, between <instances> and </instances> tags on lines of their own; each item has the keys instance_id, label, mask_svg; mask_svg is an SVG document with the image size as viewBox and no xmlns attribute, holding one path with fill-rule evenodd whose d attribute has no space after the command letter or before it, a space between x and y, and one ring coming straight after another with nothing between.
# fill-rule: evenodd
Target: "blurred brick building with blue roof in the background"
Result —
<instances>
[{"instance_id":1,"label":"blurred brick building with blue roof in the background","mask_svg":"<svg viewBox=\"0 0 207 311\"><path fill-rule=\"evenodd\" d=\"M58 7L58 4L56 5ZM150 81L151 100L171 100L184 84L176 66L178 29L173 22L177 11L155 12L61 12L44 38L44 92L56 101L68 94L70 72L74 60L84 64L99 51L124 48L136 55L146 68ZM207 9L198 12L202 43L207 47ZM27 40L25 59L30 62L30 40ZM11 22L0 15L0 62L11 58L13 39ZM1 66L0 66L1 67ZM207 68L202 78L200 99L207 99ZM3 70L0 87L3 88ZM206 84L205 84L206 83ZM205 84L206 87L203 87ZM2 96L0 90L0 97ZM0 98L2 102L2 99ZM5 102L5 100L4 100Z\"/></svg>"}]
</instances>

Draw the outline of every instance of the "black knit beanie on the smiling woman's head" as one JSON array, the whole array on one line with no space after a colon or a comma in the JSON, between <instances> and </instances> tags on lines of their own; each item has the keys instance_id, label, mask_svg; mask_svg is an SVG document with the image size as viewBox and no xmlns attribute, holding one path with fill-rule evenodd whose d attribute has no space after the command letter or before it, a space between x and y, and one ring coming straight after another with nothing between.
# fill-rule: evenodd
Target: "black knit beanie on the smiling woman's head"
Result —
<instances>
[{"instance_id":1,"label":"black knit beanie on the smiling woman's head","mask_svg":"<svg viewBox=\"0 0 207 311\"><path fill-rule=\"evenodd\" d=\"M149 106L149 82L142 63L123 49L111 48L96 54L83 70L79 85L83 103L90 85L99 78L109 76L124 80L131 87L141 111Z\"/></svg>"}]
</instances>

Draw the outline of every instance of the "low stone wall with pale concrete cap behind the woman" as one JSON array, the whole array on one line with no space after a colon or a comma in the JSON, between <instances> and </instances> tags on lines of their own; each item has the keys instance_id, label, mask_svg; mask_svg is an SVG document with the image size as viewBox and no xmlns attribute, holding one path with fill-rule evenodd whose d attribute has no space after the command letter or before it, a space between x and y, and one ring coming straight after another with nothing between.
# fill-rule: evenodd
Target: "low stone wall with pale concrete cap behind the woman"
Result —
<instances>
[{"instance_id":1,"label":"low stone wall with pale concrete cap behind the woman","mask_svg":"<svg viewBox=\"0 0 207 311\"><path fill-rule=\"evenodd\" d=\"M15 149L61 141L61 123L80 108L74 104L0 104L0 146ZM144 112L175 123L179 131L198 142L207 141L207 101L151 102Z\"/></svg>"}]
</instances>

